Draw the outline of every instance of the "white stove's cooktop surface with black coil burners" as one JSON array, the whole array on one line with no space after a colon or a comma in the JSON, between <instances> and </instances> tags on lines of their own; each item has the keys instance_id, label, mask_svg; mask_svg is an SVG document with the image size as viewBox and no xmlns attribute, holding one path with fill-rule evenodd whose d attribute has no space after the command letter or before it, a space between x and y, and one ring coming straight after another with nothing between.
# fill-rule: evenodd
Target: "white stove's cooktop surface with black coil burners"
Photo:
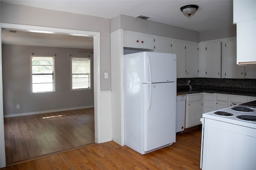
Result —
<instances>
[{"instance_id":1,"label":"white stove's cooktop surface with black coil burners","mask_svg":"<svg viewBox=\"0 0 256 170\"><path fill-rule=\"evenodd\" d=\"M246 111L242 111L244 109ZM221 113L220 115L218 115L218 113L216 112L225 112L225 113L230 113L231 115L230 114L221 115ZM251 120L241 119L242 117L245 117L245 115L248 115L248 117L251 118ZM204 113L203 117L256 129L256 108L252 108L252 107L232 106L232 107L220 109L217 111Z\"/></svg>"}]
</instances>

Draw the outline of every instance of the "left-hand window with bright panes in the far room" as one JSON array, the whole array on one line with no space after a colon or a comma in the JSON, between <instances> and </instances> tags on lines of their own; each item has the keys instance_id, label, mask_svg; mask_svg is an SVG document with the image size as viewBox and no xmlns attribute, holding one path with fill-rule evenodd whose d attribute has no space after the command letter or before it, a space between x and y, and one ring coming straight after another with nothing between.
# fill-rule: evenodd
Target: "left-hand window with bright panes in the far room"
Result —
<instances>
[{"instance_id":1,"label":"left-hand window with bright panes in the far room","mask_svg":"<svg viewBox=\"0 0 256 170\"><path fill-rule=\"evenodd\" d=\"M55 92L55 56L30 56L32 93Z\"/></svg>"}]
</instances>

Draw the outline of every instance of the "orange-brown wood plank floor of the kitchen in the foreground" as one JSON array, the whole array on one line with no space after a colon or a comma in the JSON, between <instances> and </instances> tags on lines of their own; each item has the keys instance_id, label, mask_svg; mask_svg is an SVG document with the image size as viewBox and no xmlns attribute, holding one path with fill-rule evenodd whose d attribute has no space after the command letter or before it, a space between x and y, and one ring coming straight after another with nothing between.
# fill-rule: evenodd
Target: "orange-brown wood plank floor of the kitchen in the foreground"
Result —
<instances>
[{"instance_id":1,"label":"orange-brown wood plank floor of the kitchen in the foreground","mask_svg":"<svg viewBox=\"0 0 256 170\"><path fill-rule=\"evenodd\" d=\"M141 155L113 141L24 162L1 170L200 170L201 129L178 134L171 146Z\"/></svg>"}]
</instances>

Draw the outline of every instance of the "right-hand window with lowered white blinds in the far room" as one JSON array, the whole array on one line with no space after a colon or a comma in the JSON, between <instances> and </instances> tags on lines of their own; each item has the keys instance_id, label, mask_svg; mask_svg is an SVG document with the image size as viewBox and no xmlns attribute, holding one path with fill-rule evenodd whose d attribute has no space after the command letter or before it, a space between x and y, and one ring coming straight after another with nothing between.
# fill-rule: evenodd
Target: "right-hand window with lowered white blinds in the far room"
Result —
<instances>
[{"instance_id":1,"label":"right-hand window with lowered white blinds in the far room","mask_svg":"<svg viewBox=\"0 0 256 170\"><path fill-rule=\"evenodd\" d=\"M72 90L91 89L91 58L71 57Z\"/></svg>"}]
</instances>

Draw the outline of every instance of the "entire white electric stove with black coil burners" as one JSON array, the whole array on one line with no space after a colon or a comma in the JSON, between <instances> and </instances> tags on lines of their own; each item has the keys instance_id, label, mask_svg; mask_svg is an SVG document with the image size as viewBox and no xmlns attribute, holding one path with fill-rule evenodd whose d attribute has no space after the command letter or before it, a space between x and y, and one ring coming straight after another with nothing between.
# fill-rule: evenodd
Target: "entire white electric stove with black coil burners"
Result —
<instances>
[{"instance_id":1,"label":"entire white electric stove with black coil burners","mask_svg":"<svg viewBox=\"0 0 256 170\"><path fill-rule=\"evenodd\" d=\"M232 106L204 113L201 120L200 168L256 170L256 108Z\"/></svg>"}]
</instances>

